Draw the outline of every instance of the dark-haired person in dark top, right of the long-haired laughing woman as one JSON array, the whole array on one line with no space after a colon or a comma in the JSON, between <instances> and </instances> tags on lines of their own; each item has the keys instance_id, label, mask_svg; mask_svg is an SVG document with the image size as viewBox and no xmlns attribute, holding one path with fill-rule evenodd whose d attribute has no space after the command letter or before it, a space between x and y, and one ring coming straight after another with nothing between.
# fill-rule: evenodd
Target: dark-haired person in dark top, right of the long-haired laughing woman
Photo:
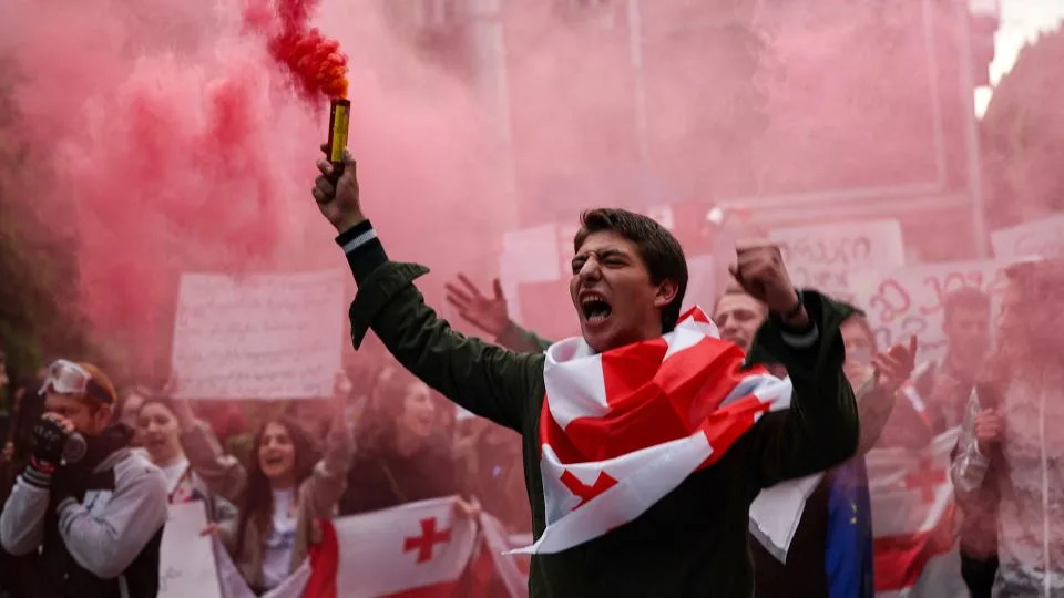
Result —
<instances>
[{"instance_id":1,"label":"dark-haired person in dark top, right of the long-haired laughing woman","mask_svg":"<svg viewBox=\"0 0 1064 598\"><path fill-rule=\"evenodd\" d=\"M359 425L359 453L348 473L340 514L459 494L451 443L440 433L429 388L398 370L378 382Z\"/></svg>"}]
</instances>

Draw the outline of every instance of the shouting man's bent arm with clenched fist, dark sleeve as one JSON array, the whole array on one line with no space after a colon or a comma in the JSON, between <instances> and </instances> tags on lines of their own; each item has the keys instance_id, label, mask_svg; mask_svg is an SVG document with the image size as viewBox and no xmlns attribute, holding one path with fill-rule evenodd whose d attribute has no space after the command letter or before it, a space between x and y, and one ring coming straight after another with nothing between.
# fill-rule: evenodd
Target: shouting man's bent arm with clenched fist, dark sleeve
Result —
<instances>
[{"instance_id":1,"label":"shouting man's bent arm with clenched fist, dark sleeve","mask_svg":"<svg viewBox=\"0 0 1064 598\"><path fill-rule=\"evenodd\" d=\"M748 359L781 363L794 384L790 409L766 413L750 431L751 473L767 487L827 470L857 451L857 404L842 372L839 333L850 311L817 292L799 295L775 245L739 244L737 254L733 276L771 315Z\"/></svg>"}]
</instances>

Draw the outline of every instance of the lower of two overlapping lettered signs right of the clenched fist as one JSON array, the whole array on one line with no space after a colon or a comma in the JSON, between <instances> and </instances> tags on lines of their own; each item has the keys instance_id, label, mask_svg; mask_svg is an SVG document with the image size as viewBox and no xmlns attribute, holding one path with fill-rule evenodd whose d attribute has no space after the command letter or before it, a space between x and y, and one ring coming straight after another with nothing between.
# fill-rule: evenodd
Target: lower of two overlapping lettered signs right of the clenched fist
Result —
<instances>
[{"instance_id":1,"label":"lower of two overlapping lettered signs right of the clenched fist","mask_svg":"<svg viewBox=\"0 0 1064 598\"><path fill-rule=\"evenodd\" d=\"M880 349L908 342L911 334L920 341L920 361L944 355L942 332L943 302L949 293L965 287L990 295L996 313L1004 295L1005 262L955 261L929 264L892 271L853 272L850 285L857 305L868 313Z\"/></svg>"}]
</instances>

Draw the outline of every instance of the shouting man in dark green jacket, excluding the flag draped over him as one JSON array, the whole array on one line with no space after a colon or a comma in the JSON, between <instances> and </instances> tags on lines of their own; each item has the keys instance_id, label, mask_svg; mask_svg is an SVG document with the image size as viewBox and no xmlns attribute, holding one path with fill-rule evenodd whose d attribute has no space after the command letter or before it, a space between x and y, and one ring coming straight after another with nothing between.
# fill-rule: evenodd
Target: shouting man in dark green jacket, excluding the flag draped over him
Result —
<instances>
[{"instance_id":1,"label":"shouting man in dark green jacket, excluding the flag draped over him","mask_svg":"<svg viewBox=\"0 0 1064 598\"><path fill-rule=\"evenodd\" d=\"M350 310L352 342L357 347L372 327L399 362L428 384L521 433L533 527L541 536L546 527L540 471L545 357L466 338L438 319L412 285L426 268L389 261L362 216L350 156L336 184L328 162L319 161L318 167L323 176L314 196L340 233L337 243L359 287ZM676 239L649 218L624 210L586 213L582 225L570 291L586 346L603 353L672 331L687 281ZM787 367L794 384L790 409L764 413L713 465L633 520L560 553L534 555L532 596L749 596L750 502L764 487L853 454L859 430L841 369L838 308L817 293L797 293L773 246L741 247L733 274L773 313L758 342Z\"/></svg>"}]
</instances>

